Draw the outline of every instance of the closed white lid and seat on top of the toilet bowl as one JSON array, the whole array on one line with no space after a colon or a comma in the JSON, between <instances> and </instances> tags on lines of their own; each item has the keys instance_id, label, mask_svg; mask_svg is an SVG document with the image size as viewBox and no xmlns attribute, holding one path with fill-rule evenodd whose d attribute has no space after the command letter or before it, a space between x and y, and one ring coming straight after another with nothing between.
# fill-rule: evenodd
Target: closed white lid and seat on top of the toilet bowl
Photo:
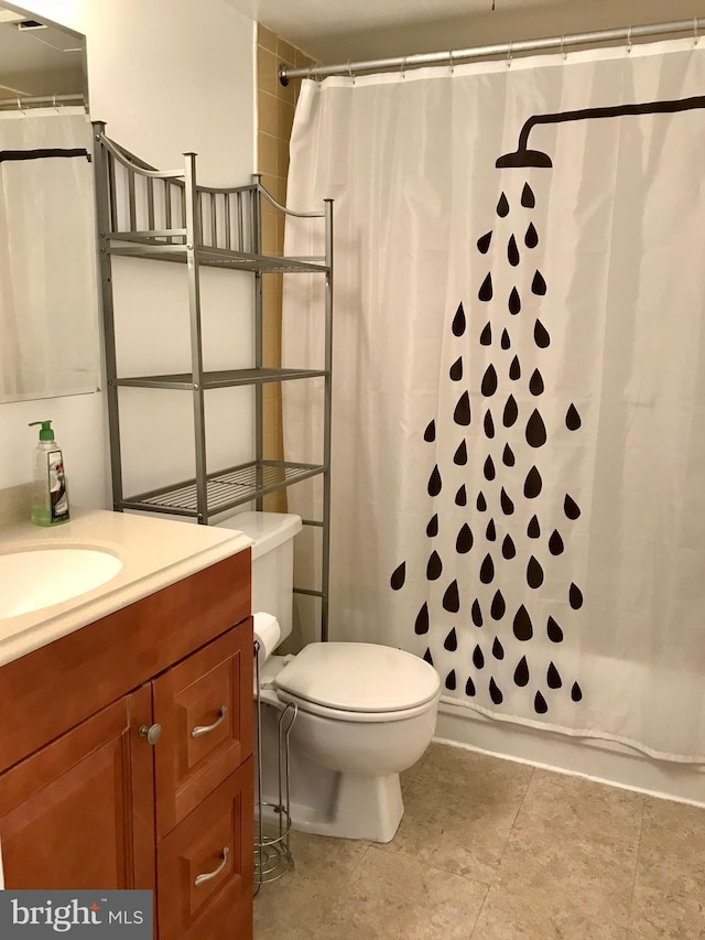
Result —
<instances>
[{"instance_id":1,"label":"closed white lid and seat on top of the toilet bowl","mask_svg":"<svg viewBox=\"0 0 705 940\"><path fill-rule=\"evenodd\" d=\"M394 712L422 705L441 688L423 659L368 642L312 642L276 677L276 687L304 702L351 712Z\"/></svg>"}]
</instances>

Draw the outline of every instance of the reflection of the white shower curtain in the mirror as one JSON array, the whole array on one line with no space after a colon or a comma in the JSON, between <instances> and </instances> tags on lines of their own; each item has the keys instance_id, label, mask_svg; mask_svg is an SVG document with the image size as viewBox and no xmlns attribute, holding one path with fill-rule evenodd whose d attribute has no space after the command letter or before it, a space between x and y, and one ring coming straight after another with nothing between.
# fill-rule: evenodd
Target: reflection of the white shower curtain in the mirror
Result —
<instances>
[{"instance_id":1,"label":"reflection of the white shower curtain in the mirror","mask_svg":"<svg viewBox=\"0 0 705 940\"><path fill-rule=\"evenodd\" d=\"M93 171L83 108L0 115L0 401L96 391Z\"/></svg>"}]
</instances>

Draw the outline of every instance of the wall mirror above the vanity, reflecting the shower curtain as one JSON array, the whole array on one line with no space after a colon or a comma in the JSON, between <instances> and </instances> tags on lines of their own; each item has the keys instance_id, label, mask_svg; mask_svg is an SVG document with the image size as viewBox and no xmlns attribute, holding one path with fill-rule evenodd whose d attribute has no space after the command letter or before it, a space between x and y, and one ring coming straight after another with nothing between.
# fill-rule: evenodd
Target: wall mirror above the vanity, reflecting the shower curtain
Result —
<instances>
[{"instance_id":1,"label":"wall mirror above the vanity, reflecting the shower curtain","mask_svg":"<svg viewBox=\"0 0 705 940\"><path fill-rule=\"evenodd\" d=\"M95 392L85 37L0 0L0 402Z\"/></svg>"}]
</instances>

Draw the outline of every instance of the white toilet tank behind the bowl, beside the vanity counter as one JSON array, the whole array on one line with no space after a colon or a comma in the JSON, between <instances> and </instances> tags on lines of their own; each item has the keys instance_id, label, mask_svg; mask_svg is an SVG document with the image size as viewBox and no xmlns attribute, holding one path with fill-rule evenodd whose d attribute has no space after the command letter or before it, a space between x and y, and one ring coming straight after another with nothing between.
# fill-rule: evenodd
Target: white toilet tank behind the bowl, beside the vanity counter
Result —
<instances>
[{"instance_id":1,"label":"white toilet tank behind the bowl, beside the vanity counter","mask_svg":"<svg viewBox=\"0 0 705 940\"><path fill-rule=\"evenodd\" d=\"M291 512L240 512L220 528L237 529L254 541L252 545L252 613L273 614L282 640L291 634L294 536L301 531L301 516Z\"/></svg>"}]
</instances>

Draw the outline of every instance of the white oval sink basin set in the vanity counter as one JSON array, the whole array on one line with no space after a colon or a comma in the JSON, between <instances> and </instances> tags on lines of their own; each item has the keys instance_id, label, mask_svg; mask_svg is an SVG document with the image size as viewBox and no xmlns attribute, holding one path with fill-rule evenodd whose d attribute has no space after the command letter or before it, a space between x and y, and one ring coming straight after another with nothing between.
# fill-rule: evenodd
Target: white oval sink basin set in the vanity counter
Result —
<instances>
[{"instance_id":1,"label":"white oval sink basin set in the vanity counter","mask_svg":"<svg viewBox=\"0 0 705 940\"><path fill-rule=\"evenodd\" d=\"M0 618L70 601L99 587L122 568L96 549L30 549L0 554Z\"/></svg>"}]
</instances>

